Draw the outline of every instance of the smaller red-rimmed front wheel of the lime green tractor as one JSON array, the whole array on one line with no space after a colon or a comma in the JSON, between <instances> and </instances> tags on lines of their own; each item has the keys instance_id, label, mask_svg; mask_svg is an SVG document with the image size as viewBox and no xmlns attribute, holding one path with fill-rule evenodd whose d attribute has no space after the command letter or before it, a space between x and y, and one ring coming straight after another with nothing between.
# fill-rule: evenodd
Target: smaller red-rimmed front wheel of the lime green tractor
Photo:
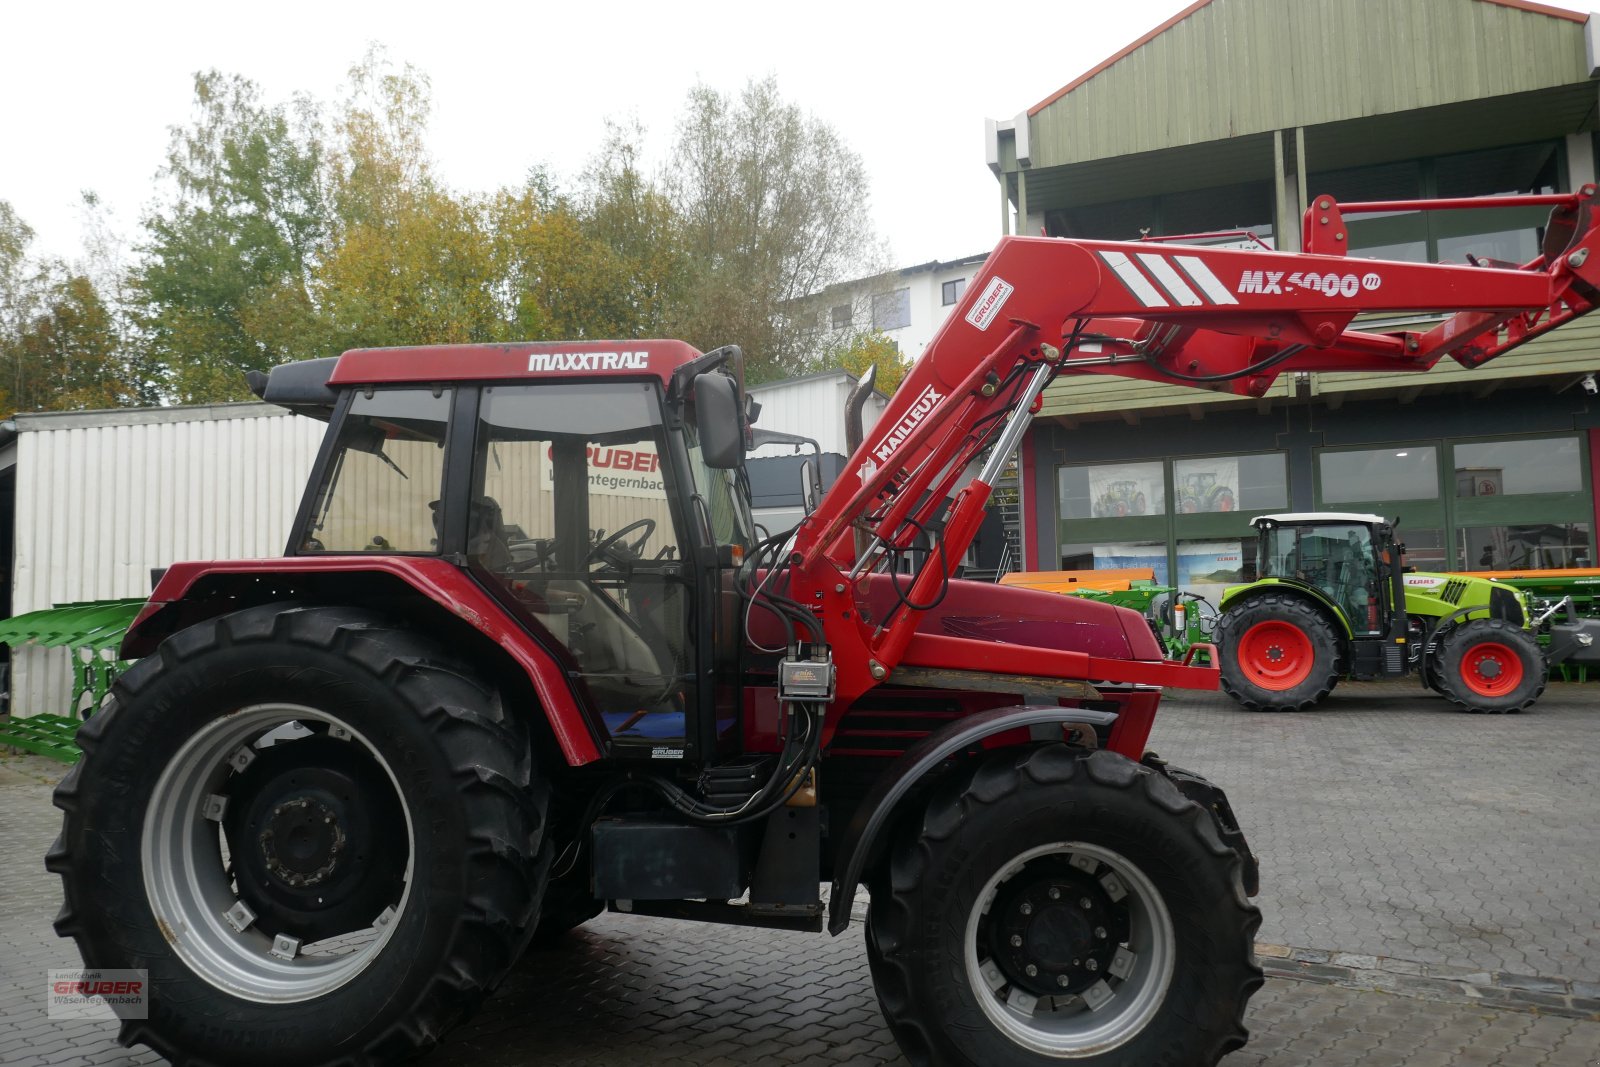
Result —
<instances>
[{"instance_id":1,"label":"smaller red-rimmed front wheel of the lime green tractor","mask_svg":"<svg viewBox=\"0 0 1600 1067\"><path fill-rule=\"evenodd\" d=\"M1544 693L1539 643L1506 619L1472 619L1450 629L1430 669L1438 693L1469 712L1520 712Z\"/></svg>"}]
</instances>

